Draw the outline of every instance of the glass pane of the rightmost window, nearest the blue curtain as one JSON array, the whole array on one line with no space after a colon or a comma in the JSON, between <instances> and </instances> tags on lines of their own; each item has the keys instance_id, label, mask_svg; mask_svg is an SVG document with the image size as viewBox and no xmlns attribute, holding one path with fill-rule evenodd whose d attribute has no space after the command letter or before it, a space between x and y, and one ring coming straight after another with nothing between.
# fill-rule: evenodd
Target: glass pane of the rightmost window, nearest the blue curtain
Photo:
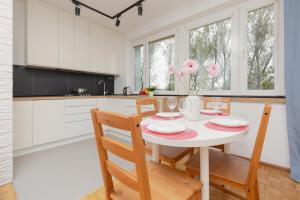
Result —
<instances>
[{"instance_id":1,"label":"glass pane of the rightmost window, nearest the blue curtain","mask_svg":"<svg viewBox=\"0 0 300 200\"><path fill-rule=\"evenodd\" d=\"M248 90L273 90L275 86L275 6L248 12Z\"/></svg>"}]
</instances>

